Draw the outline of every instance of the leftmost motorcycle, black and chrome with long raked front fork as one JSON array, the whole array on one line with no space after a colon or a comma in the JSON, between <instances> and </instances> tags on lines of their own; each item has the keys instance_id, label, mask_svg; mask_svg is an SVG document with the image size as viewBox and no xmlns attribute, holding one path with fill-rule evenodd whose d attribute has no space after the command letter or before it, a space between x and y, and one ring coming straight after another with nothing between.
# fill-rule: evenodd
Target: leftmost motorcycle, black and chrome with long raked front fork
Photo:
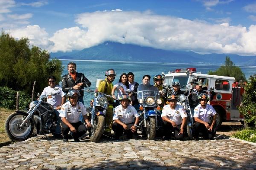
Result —
<instances>
[{"instance_id":1,"label":"leftmost motorcycle, black and chrome with long raked front fork","mask_svg":"<svg viewBox=\"0 0 256 170\"><path fill-rule=\"evenodd\" d=\"M58 89L55 87L53 91L58 91ZM59 94L52 92L32 101L29 104L28 112L16 111L6 119L5 130L10 139L24 141L32 135L34 128L36 128L36 134L54 134L58 121L57 116L52 105L44 102L48 96Z\"/></svg>"}]
</instances>

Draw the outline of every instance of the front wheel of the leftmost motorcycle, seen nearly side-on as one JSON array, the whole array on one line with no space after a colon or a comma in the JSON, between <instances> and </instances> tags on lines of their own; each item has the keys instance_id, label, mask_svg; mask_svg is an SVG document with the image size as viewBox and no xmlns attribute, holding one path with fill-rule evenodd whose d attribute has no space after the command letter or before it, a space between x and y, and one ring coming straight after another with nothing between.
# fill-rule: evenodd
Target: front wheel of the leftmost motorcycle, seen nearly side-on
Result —
<instances>
[{"instance_id":1,"label":"front wheel of the leftmost motorcycle, seen nearly side-on","mask_svg":"<svg viewBox=\"0 0 256 170\"><path fill-rule=\"evenodd\" d=\"M15 112L6 119L5 130L7 136L13 141L24 141L33 133L34 124L32 119L29 119L23 127L20 127L26 117L26 113Z\"/></svg>"}]
</instances>

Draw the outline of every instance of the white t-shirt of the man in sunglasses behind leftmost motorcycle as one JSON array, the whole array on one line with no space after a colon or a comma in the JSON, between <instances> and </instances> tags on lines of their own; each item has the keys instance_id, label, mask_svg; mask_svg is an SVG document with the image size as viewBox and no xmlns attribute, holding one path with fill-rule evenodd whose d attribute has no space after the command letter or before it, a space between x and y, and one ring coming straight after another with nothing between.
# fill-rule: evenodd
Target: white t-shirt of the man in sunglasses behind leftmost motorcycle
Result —
<instances>
[{"instance_id":1,"label":"white t-shirt of the man in sunglasses behind leftmost motorcycle","mask_svg":"<svg viewBox=\"0 0 256 170\"><path fill-rule=\"evenodd\" d=\"M58 85L56 86L59 87ZM48 95L49 93L59 93L54 96L48 96L47 102L51 104L54 108L56 108L57 106L60 106L62 97L65 96L65 93L62 91L62 88L59 87L58 91L55 91L54 88L47 86L46 88L44 88L41 95Z\"/></svg>"}]
</instances>

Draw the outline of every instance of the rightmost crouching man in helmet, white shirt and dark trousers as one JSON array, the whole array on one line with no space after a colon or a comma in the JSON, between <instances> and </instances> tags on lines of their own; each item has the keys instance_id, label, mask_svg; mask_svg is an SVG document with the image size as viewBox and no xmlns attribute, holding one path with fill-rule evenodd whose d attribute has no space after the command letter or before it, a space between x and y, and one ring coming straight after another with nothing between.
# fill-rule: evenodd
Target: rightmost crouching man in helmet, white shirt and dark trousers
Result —
<instances>
[{"instance_id":1,"label":"rightmost crouching man in helmet, white shirt and dark trousers","mask_svg":"<svg viewBox=\"0 0 256 170\"><path fill-rule=\"evenodd\" d=\"M209 101L207 94L200 94L198 99L200 104L194 110L195 140L198 140L199 131L203 132L205 139L212 139L216 134L216 111L212 105L207 104ZM212 122L211 117L213 117Z\"/></svg>"}]
</instances>

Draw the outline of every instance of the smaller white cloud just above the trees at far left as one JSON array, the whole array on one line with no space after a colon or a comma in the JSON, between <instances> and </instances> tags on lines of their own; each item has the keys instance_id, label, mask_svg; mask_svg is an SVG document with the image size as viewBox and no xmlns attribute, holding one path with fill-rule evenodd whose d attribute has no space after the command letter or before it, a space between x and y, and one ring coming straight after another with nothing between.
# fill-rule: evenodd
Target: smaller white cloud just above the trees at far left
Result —
<instances>
[{"instance_id":1,"label":"smaller white cloud just above the trees at far left","mask_svg":"<svg viewBox=\"0 0 256 170\"><path fill-rule=\"evenodd\" d=\"M23 28L10 30L12 37L20 39L22 37L29 38L30 45L36 45L42 49L47 49L52 42L48 40L48 33L37 25L26 26Z\"/></svg>"}]
</instances>

